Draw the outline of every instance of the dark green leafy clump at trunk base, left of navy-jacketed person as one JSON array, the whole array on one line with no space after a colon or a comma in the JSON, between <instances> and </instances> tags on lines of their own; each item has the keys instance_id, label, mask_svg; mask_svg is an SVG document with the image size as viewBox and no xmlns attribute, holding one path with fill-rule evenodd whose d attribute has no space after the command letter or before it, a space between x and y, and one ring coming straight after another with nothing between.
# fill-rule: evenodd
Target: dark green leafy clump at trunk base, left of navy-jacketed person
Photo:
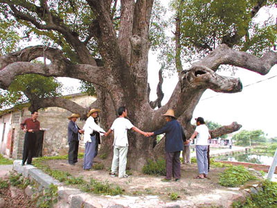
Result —
<instances>
[{"instance_id":1,"label":"dark green leafy clump at trunk base, left of navy-jacketed person","mask_svg":"<svg viewBox=\"0 0 277 208\"><path fill-rule=\"evenodd\" d=\"M147 175L166 175L166 160L157 159L157 162L154 162L152 159L148 159L147 164L143 166L143 173Z\"/></svg>"}]
</instances>

